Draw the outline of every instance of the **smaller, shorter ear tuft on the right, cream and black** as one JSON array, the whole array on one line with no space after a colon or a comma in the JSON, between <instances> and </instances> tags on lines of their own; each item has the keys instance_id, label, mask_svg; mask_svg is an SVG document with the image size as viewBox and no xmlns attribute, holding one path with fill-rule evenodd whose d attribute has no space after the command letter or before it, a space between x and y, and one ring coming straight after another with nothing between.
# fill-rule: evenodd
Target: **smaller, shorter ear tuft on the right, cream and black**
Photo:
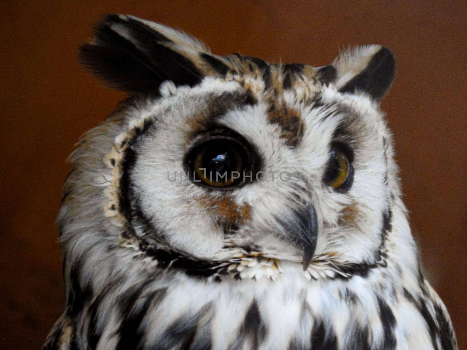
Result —
<instances>
[{"instance_id":1,"label":"smaller, shorter ear tuft on the right, cream and black","mask_svg":"<svg viewBox=\"0 0 467 350\"><path fill-rule=\"evenodd\" d=\"M384 97L396 72L394 55L381 45L348 49L333 66L337 71L334 84L340 92L363 91L377 100Z\"/></svg>"}]
</instances>

